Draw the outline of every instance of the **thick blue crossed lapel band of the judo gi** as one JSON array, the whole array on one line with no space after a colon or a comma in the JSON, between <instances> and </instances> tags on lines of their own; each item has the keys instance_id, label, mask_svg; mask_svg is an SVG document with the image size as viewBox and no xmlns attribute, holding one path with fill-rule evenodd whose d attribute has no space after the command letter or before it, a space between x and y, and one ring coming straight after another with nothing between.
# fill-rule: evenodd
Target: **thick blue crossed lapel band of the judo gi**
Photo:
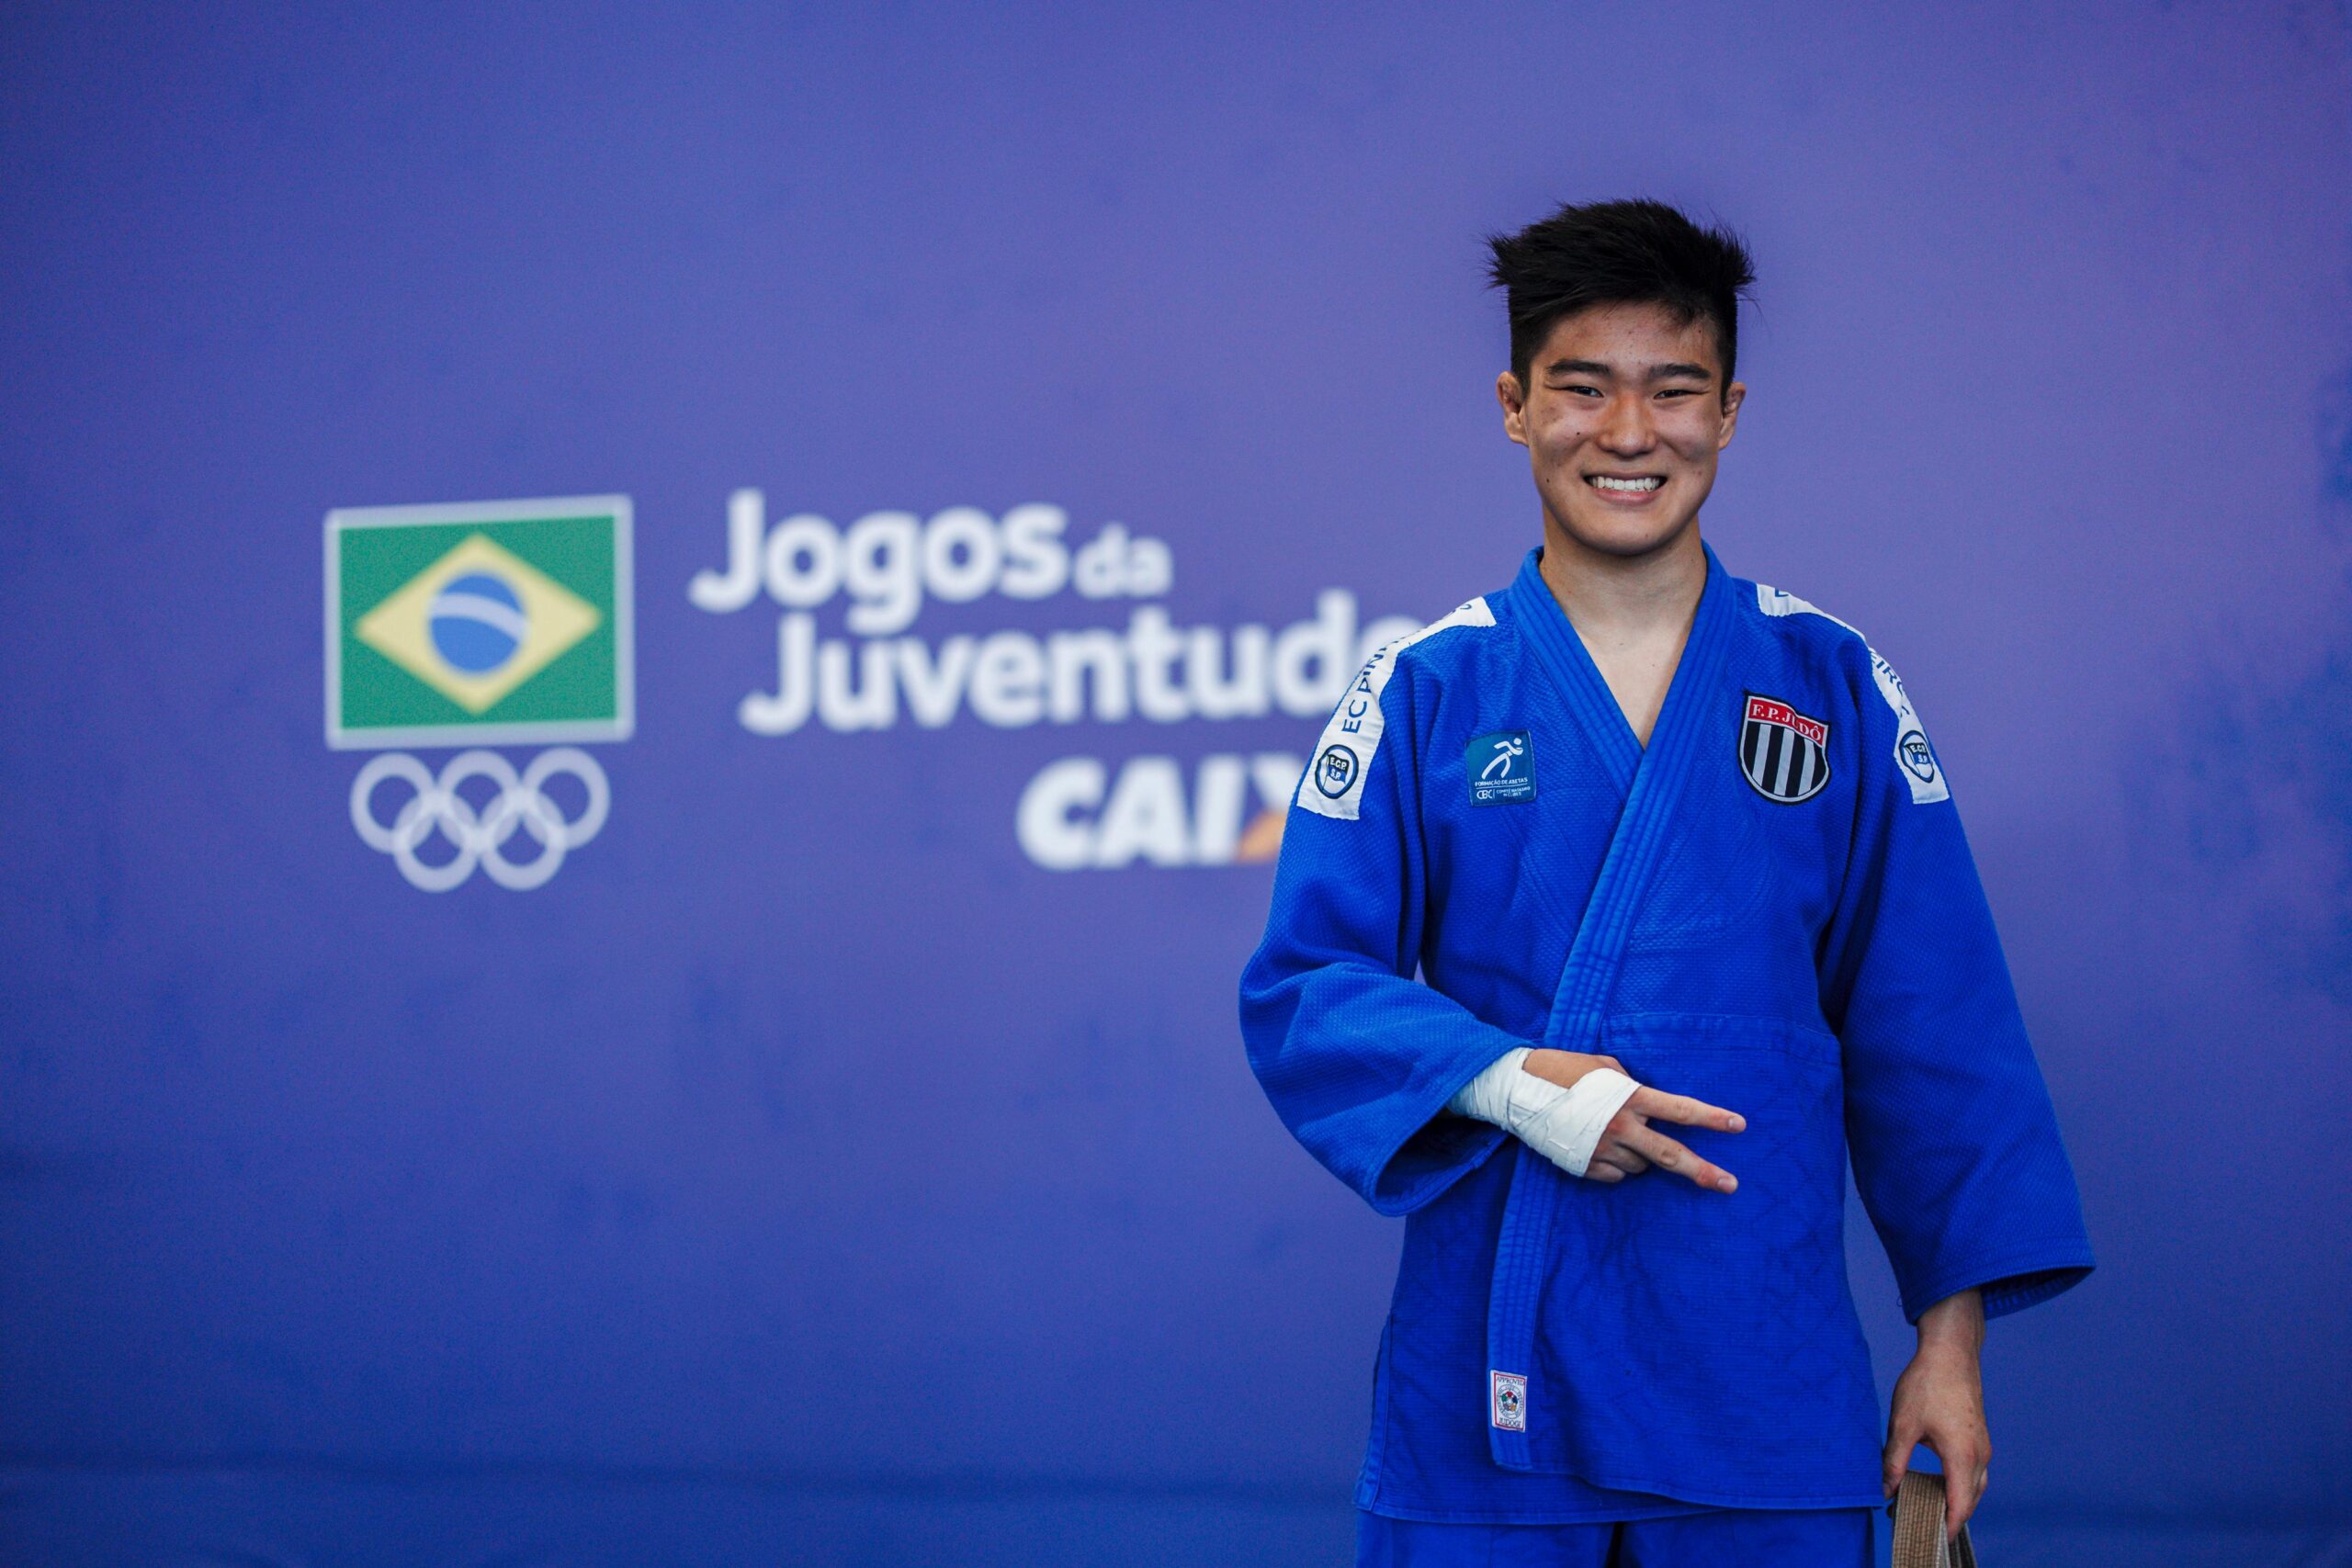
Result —
<instances>
[{"instance_id":1,"label":"thick blue crossed lapel band of the judo gi","mask_svg":"<svg viewBox=\"0 0 2352 1568\"><path fill-rule=\"evenodd\" d=\"M1522 581L1512 583L1515 621L1524 628L1538 661L1562 682L1562 696L1592 733L1595 748L1611 771L1623 766L1623 778L1628 778L1625 809L1609 839L1609 856L1602 860L1592 900L1576 929L1569 961L1559 971L1559 985L1552 987L1552 1016L1545 1023L1543 1044L1555 1051L1599 1048L1609 994L1625 957L1625 938L1642 912L1668 827L1689 785L1705 729L1708 698L1722 684L1736 607L1729 574L1715 559L1715 550L1705 555L1708 583L1698 595L1691 637L1682 646L1682 663L1675 665L1675 679L1668 684L1665 708L1658 712L1646 750L1628 729L1625 715L1576 637L1576 628L1569 625L1550 588L1536 576L1534 557L1519 574ZM1536 576L1534 590L1543 595L1541 602L1531 602L1522 592L1529 576ZM1616 719L1613 738L1606 741L1602 738L1609 733L1604 719ZM1529 1415L1543 1408L1538 1401L1550 1396L1548 1389L1526 1382L1536 1373L1536 1305L1552 1255L1559 1197L1564 1182L1571 1180L1576 1178L1526 1145L1517 1147L1510 1201L1503 1211L1503 1234L1494 1258L1494 1284L1486 1298L1486 1441L1494 1462L1505 1469L1534 1469L1526 1441ZM1505 1385L1505 1380L1512 1382ZM1510 1387L1517 1396L1515 1403L1505 1408L1505 1401L1494 1396L1498 1387Z\"/></svg>"}]
</instances>

